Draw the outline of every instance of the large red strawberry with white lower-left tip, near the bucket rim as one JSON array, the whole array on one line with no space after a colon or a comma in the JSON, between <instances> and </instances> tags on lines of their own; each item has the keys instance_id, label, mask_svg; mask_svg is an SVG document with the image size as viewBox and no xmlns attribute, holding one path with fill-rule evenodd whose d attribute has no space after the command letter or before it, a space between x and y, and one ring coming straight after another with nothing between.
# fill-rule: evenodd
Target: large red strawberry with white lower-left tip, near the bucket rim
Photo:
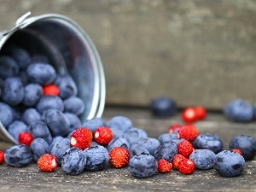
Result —
<instances>
[{"instance_id":1,"label":"large red strawberry with white lower-left tip, near the bucket rim","mask_svg":"<svg viewBox=\"0 0 256 192\"><path fill-rule=\"evenodd\" d=\"M89 148L92 142L92 132L88 128L81 127L71 134L70 146L81 148Z\"/></svg>"}]
</instances>

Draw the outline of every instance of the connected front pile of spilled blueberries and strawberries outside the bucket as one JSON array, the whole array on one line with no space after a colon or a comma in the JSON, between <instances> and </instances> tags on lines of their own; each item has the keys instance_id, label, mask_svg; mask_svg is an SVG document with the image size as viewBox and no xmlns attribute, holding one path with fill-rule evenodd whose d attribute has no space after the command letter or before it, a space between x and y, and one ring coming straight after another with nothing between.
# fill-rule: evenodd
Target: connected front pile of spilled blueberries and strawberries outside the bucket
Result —
<instances>
[{"instance_id":1,"label":"connected front pile of spilled blueberries and strawberries outside the bucket","mask_svg":"<svg viewBox=\"0 0 256 192\"><path fill-rule=\"evenodd\" d=\"M229 150L224 150L220 137L200 134L193 124L170 128L171 132L157 139L135 128L127 117L114 116L108 123L94 118L67 137L54 137L50 144L44 138L36 138L30 147L12 146L5 151L4 160L15 167L26 166L34 160L43 172L53 172L61 166L70 175L112 165L114 168L127 166L134 177L151 177L157 172L172 172L173 168L186 175L195 169L214 168L221 176L235 177L245 170L246 160L253 159L256 153L253 137L234 137Z\"/></svg>"}]
</instances>

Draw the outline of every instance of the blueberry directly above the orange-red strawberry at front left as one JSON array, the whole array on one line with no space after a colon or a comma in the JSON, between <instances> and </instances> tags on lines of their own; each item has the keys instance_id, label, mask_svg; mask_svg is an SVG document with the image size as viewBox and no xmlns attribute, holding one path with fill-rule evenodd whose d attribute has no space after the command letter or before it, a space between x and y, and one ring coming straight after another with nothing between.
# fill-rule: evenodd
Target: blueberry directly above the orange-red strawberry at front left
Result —
<instances>
[{"instance_id":1,"label":"blueberry directly above the orange-red strawberry at front left","mask_svg":"<svg viewBox=\"0 0 256 192\"><path fill-rule=\"evenodd\" d=\"M43 138L35 138L30 144L33 153L33 160L38 162L43 154L48 154L49 144Z\"/></svg>"}]
</instances>

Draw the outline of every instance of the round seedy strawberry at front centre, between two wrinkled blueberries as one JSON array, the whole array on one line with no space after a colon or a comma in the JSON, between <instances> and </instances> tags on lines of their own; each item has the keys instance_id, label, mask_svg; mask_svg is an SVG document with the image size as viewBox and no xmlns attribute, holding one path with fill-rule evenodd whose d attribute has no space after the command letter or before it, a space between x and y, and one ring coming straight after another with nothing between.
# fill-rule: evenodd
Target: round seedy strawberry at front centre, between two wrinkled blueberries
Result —
<instances>
[{"instance_id":1,"label":"round seedy strawberry at front centre, between two wrinkled blueberries","mask_svg":"<svg viewBox=\"0 0 256 192\"><path fill-rule=\"evenodd\" d=\"M127 166L129 158L129 151L126 148L115 147L109 151L109 162L115 168Z\"/></svg>"}]
</instances>

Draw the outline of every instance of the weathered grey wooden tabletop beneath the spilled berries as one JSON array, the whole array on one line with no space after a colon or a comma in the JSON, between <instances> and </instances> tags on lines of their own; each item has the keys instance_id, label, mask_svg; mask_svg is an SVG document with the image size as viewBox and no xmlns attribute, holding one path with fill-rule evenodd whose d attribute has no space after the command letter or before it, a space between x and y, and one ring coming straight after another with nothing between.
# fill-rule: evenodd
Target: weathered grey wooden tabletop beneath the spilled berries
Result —
<instances>
[{"instance_id":1,"label":"weathered grey wooden tabletop beneath the spilled berries","mask_svg":"<svg viewBox=\"0 0 256 192\"><path fill-rule=\"evenodd\" d=\"M180 113L168 119L155 119L147 109L106 108L103 118L108 121L115 115L131 118L134 126L143 128L149 137L159 137L173 123L182 123ZM236 124L224 119L221 113L209 113L207 119L197 122L201 133L216 133L228 148L236 135L256 137L255 122ZM256 160L248 160L246 170L239 177L220 177L214 170L196 170L182 175L176 170L168 174L157 173L154 177L132 177L127 168L109 166L100 172L82 172L69 176L58 167L55 172L40 172L36 164L23 168L0 166L0 191L256 191Z\"/></svg>"}]
</instances>

